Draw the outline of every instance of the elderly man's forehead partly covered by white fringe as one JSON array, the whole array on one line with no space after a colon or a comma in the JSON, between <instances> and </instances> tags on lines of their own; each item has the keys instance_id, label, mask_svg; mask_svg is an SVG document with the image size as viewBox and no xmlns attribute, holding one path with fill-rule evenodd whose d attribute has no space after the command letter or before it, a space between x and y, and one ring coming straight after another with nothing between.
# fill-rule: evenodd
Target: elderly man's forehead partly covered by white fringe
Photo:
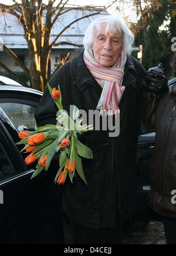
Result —
<instances>
[{"instance_id":1,"label":"elderly man's forehead partly covered by white fringe","mask_svg":"<svg viewBox=\"0 0 176 256\"><path fill-rule=\"evenodd\" d=\"M94 36L110 35L111 37L121 38L123 31L117 26L117 24L110 24L109 22L101 22L94 26Z\"/></svg>"}]
</instances>

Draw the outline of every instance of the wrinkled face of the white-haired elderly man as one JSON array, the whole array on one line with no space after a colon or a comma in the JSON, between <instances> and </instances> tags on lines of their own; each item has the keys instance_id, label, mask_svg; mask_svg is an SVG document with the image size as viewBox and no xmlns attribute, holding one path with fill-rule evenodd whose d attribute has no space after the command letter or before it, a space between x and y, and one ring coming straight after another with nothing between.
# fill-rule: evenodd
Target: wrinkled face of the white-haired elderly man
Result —
<instances>
[{"instance_id":1,"label":"wrinkled face of the white-haired elderly man","mask_svg":"<svg viewBox=\"0 0 176 256\"><path fill-rule=\"evenodd\" d=\"M101 31L97 31L92 46L94 59L101 66L113 66L121 54L123 39L118 33L105 33L107 23L101 23Z\"/></svg>"}]
</instances>

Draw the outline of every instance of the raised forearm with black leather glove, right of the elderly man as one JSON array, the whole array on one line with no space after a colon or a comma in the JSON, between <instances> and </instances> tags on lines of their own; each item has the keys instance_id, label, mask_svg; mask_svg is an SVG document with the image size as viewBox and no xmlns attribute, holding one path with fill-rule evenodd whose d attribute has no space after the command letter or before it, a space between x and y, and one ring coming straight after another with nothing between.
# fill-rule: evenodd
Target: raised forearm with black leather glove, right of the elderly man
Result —
<instances>
[{"instance_id":1,"label":"raised forearm with black leather glove, right of the elderly man","mask_svg":"<svg viewBox=\"0 0 176 256\"><path fill-rule=\"evenodd\" d=\"M142 119L148 132L155 131L155 110L168 92L168 80L161 64L147 71L141 82Z\"/></svg>"}]
</instances>

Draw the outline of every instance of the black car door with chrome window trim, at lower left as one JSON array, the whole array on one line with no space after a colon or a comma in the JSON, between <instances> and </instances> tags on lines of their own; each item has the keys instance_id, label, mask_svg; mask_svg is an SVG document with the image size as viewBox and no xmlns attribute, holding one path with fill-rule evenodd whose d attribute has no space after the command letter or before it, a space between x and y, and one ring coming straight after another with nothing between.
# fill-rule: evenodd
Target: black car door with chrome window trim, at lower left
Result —
<instances>
[{"instance_id":1,"label":"black car door with chrome window trim, at lower left","mask_svg":"<svg viewBox=\"0 0 176 256\"><path fill-rule=\"evenodd\" d=\"M0 108L0 244L63 244L60 199L26 167L18 132Z\"/></svg>"}]
</instances>

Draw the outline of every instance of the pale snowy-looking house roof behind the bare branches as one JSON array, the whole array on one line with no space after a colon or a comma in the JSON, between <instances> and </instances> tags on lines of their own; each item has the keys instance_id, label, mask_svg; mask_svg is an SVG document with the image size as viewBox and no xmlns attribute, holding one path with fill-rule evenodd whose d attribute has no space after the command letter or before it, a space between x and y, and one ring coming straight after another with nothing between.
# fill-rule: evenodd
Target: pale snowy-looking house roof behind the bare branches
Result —
<instances>
[{"instance_id":1,"label":"pale snowy-looking house roof behind the bare branches","mask_svg":"<svg viewBox=\"0 0 176 256\"><path fill-rule=\"evenodd\" d=\"M52 30L52 35L50 41L56 38L56 35L62 31L69 23L82 16L93 14L93 11L80 11L72 10L61 15L57 19L55 26ZM57 42L71 42L76 44L83 43L84 33L86 32L87 26L93 19L100 15L107 15L107 12L103 12L99 15L90 16L74 23L70 28L68 28L65 33L57 40ZM0 16L0 42L3 42L8 48L11 49L28 49L28 43L24 38L24 30L21 22L19 22L16 16L11 14L2 14ZM72 45L59 45L53 47L53 49L74 49L75 46Z\"/></svg>"}]
</instances>

